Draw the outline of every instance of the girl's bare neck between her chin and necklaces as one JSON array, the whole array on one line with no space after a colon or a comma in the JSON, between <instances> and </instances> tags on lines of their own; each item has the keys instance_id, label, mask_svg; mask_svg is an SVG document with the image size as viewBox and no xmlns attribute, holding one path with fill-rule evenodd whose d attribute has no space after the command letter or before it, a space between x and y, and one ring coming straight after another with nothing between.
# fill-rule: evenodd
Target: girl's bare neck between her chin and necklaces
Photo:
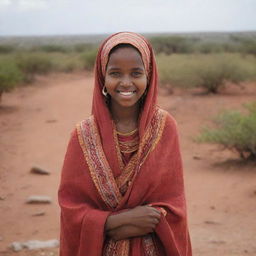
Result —
<instances>
[{"instance_id":1,"label":"girl's bare neck between her chin and necklaces","mask_svg":"<svg viewBox=\"0 0 256 256\"><path fill-rule=\"evenodd\" d=\"M130 124L136 123L139 117L139 105L136 104L132 107L122 107L120 105L111 103L110 111L115 123Z\"/></svg>"}]
</instances>

